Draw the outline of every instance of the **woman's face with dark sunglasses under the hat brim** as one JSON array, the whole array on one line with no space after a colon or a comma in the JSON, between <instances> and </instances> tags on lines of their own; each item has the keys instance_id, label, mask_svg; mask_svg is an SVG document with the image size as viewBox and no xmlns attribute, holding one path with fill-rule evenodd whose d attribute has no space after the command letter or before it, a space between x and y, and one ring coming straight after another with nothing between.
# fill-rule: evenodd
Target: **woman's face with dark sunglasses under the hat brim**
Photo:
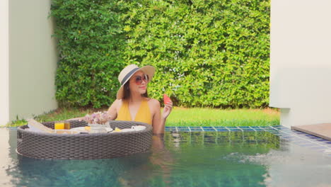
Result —
<instances>
[{"instance_id":1,"label":"woman's face with dark sunglasses under the hat brim","mask_svg":"<svg viewBox=\"0 0 331 187\"><path fill-rule=\"evenodd\" d=\"M145 94L149 78L144 72L138 71L130 78L129 89L131 93Z\"/></svg>"}]
</instances>

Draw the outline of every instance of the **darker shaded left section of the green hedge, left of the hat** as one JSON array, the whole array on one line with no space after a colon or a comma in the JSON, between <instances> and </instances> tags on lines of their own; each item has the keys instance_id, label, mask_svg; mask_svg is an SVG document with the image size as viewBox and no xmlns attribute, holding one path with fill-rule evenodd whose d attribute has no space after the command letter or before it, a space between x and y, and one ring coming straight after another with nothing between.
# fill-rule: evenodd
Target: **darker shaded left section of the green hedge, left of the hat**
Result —
<instances>
[{"instance_id":1,"label":"darker shaded left section of the green hedge, left of the hat","mask_svg":"<svg viewBox=\"0 0 331 187\"><path fill-rule=\"evenodd\" d=\"M124 66L121 15L114 1L52 1L59 40L59 102L99 108L115 98L120 85L115 75Z\"/></svg>"}]
</instances>

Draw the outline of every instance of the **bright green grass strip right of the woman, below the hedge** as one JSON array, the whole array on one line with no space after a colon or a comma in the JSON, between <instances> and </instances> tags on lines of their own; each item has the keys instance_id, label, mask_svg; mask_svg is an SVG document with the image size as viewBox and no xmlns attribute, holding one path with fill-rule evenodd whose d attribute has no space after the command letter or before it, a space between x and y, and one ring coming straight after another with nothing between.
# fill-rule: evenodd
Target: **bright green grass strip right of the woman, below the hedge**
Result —
<instances>
[{"instance_id":1,"label":"bright green grass strip right of the woman, below the hedge","mask_svg":"<svg viewBox=\"0 0 331 187\"><path fill-rule=\"evenodd\" d=\"M174 108L168 126L265 126L279 125L279 111L267 109Z\"/></svg>"}]
</instances>

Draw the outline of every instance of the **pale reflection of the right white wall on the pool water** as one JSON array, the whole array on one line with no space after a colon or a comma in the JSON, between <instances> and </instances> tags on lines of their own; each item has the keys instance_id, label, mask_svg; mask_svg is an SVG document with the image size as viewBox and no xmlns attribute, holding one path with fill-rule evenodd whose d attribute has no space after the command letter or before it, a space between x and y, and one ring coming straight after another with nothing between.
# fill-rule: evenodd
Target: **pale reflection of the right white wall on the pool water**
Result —
<instances>
[{"instance_id":1,"label":"pale reflection of the right white wall on the pool water","mask_svg":"<svg viewBox=\"0 0 331 187\"><path fill-rule=\"evenodd\" d=\"M265 154L246 155L234 152L223 159L266 166L263 184L268 187L331 186L330 157L286 141L281 142L279 149L271 149Z\"/></svg>"}]
</instances>

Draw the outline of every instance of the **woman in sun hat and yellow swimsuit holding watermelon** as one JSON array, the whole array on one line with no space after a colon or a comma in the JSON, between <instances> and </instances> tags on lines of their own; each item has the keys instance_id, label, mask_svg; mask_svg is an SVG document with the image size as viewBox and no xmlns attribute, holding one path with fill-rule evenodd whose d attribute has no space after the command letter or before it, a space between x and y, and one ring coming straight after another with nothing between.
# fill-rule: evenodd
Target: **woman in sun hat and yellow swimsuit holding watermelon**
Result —
<instances>
[{"instance_id":1,"label":"woman in sun hat and yellow swimsuit holding watermelon","mask_svg":"<svg viewBox=\"0 0 331 187\"><path fill-rule=\"evenodd\" d=\"M153 78L155 68L152 66L137 67L131 64L125 67L118 80L121 87L117 91L117 99L108 109L112 120L132 120L153 126L154 134L164 132L165 120L170 114L173 103L165 104L161 114L160 102L149 98L147 84Z\"/></svg>"}]
</instances>

